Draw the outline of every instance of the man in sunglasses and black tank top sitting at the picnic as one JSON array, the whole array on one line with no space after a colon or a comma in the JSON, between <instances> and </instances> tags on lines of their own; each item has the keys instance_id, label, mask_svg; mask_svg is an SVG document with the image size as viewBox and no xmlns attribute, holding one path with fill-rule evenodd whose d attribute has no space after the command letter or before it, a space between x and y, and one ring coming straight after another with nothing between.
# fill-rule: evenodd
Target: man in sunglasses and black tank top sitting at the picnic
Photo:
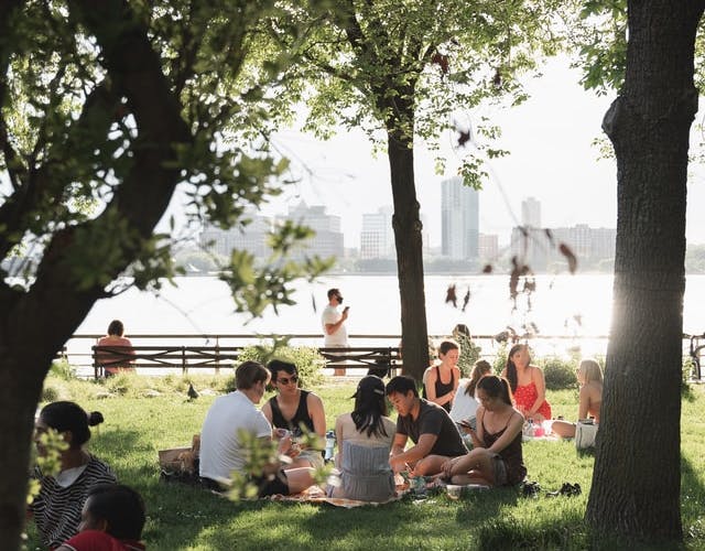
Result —
<instances>
[{"instance_id":1,"label":"man in sunglasses and black tank top sitting at the picnic","mask_svg":"<svg viewBox=\"0 0 705 551\"><path fill-rule=\"evenodd\" d=\"M275 429L291 432L294 446L288 455L291 464L284 468L323 466L323 445L306 446L304 431L317 435L319 444L326 434L326 414L323 401L313 392L299 388L296 366L279 359L271 360L267 367L272 376L271 383L276 396L262 406L262 413Z\"/></svg>"}]
</instances>

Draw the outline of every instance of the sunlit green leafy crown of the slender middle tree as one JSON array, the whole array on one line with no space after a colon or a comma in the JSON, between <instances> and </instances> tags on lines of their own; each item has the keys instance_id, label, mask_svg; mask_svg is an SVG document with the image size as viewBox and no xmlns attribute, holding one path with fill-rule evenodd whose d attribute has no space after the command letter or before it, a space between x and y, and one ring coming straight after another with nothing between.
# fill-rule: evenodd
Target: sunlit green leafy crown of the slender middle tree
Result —
<instances>
[{"instance_id":1,"label":"sunlit green leafy crown of the slender middle tree","mask_svg":"<svg viewBox=\"0 0 705 551\"><path fill-rule=\"evenodd\" d=\"M290 97L305 102L305 128L319 137L344 125L381 145L393 129L403 142L421 138L437 151L441 137L457 130L458 147L466 149L457 153L467 158L463 175L479 187L485 160L506 152L489 144L497 128L474 116L475 132L487 142L475 141L457 114L525 99L517 77L560 46L550 21L563 6L346 0L294 11L291 19L308 31L289 71ZM274 40L293 46L282 29L282 21L272 23ZM438 170L445 162L438 158Z\"/></svg>"}]
</instances>

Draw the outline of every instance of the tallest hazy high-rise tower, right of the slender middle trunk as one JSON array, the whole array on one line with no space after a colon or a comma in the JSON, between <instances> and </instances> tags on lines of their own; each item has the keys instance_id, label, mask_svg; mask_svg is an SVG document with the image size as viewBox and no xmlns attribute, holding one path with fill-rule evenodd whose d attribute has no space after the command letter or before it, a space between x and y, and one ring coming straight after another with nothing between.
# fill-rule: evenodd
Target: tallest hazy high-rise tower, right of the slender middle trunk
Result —
<instances>
[{"instance_id":1,"label":"tallest hazy high-rise tower, right of the slender middle trunk","mask_svg":"<svg viewBox=\"0 0 705 551\"><path fill-rule=\"evenodd\" d=\"M459 176L441 182L441 250L454 260L475 260L478 252L479 196Z\"/></svg>"}]
</instances>

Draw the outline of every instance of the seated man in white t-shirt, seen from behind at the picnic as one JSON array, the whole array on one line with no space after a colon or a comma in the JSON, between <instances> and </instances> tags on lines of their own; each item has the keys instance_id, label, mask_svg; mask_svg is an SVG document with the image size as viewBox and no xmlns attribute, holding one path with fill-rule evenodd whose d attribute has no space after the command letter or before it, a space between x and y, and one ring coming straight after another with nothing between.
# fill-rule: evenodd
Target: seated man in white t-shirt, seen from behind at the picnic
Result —
<instances>
[{"instance_id":1,"label":"seated man in white t-shirt, seen from behind at the picnic","mask_svg":"<svg viewBox=\"0 0 705 551\"><path fill-rule=\"evenodd\" d=\"M200 431L200 478L212 489L223 489L230 484L234 471L243 472L249 454L240 441L242 431L262 443L272 440L272 426L254 406L260 402L269 382L270 372L257 361L245 361L235 372L237 390L216 398L206 413ZM279 453L291 447L291 436L279 441ZM270 474L275 476L270 480ZM314 484L311 468L281 469L279 462L267 465L261 476L252 477L259 495L296 494Z\"/></svg>"}]
</instances>

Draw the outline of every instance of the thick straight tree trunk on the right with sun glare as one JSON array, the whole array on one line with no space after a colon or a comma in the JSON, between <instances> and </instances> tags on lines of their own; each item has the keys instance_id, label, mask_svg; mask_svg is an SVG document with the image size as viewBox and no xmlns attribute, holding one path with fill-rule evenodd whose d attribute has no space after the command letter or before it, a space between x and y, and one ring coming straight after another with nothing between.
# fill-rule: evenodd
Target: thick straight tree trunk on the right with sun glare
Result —
<instances>
[{"instance_id":1,"label":"thick straight tree trunk on the right with sun glare","mask_svg":"<svg viewBox=\"0 0 705 551\"><path fill-rule=\"evenodd\" d=\"M614 317L586 518L681 539L680 415L688 132L703 2L630 1L623 89L605 116L618 169Z\"/></svg>"}]
</instances>

